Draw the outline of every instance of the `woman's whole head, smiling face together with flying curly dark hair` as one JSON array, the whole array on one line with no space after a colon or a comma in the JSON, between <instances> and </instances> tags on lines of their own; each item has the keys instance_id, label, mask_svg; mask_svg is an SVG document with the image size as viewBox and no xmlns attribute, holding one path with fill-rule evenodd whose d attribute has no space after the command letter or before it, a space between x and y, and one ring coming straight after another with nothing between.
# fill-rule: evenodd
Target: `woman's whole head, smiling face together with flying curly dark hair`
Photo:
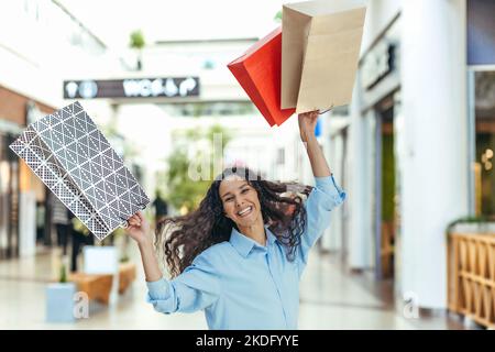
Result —
<instances>
[{"instance_id":1,"label":"woman's whole head, smiling face together with flying curly dark hair","mask_svg":"<svg viewBox=\"0 0 495 352\"><path fill-rule=\"evenodd\" d=\"M264 180L248 168L227 168L211 184L197 211L162 222L156 244L163 248L172 275L184 272L206 249L229 241L232 230L265 245L266 226L284 243L287 258L294 256L304 232L306 209L299 195L283 196L290 186L295 185ZM305 196L311 189L301 188ZM289 206L294 207L290 213ZM175 230L165 237L169 229Z\"/></svg>"}]
</instances>

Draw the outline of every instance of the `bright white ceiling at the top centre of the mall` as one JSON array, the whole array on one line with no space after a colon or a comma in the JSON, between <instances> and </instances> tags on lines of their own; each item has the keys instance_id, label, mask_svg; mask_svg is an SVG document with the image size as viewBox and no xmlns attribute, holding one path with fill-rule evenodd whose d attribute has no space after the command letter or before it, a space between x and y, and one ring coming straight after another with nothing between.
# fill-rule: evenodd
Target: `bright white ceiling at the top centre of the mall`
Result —
<instances>
[{"instance_id":1,"label":"bright white ceiling at the top centre of the mall","mask_svg":"<svg viewBox=\"0 0 495 352\"><path fill-rule=\"evenodd\" d=\"M110 47L141 29L147 43L260 37L278 25L287 0L57 0Z\"/></svg>"}]
</instances>

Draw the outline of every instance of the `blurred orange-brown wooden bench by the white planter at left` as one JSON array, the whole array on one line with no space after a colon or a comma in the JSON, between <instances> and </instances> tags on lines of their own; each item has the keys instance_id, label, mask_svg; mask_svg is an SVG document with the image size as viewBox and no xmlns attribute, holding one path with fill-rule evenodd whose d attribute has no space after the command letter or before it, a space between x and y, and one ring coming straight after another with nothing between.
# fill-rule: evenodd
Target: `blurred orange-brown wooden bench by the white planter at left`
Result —
<instances>
[{"instance_id":1,"label":"blurred orange-brown wooden bench by the white planter at left","mask_svg":"<svg viewBox=\"0 0 495 352\"><path fill-rule=\"evenodd\" d=\"M119 266L119 294L123 294L136 277L133 263L123 263ZM108 305L112 290L113 275L73 273L68 280L76 284L77 289L85 292L89 299Z\"/></svg>"}]
</instances>

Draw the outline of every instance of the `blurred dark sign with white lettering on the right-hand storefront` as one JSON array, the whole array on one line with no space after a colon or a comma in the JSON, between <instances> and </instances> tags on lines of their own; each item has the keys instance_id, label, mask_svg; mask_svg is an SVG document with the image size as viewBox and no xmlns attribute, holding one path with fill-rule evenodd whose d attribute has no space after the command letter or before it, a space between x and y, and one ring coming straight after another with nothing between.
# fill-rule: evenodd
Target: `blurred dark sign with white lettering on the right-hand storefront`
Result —
<instances>
[{"instance_id":1,"label":"blurred dark sign with white lettering on the right-hand storefront","mask_svg":"<svg viewBox=\"0 0 495 352\"><path fill-rule=\"evenodd\" d=\"M371 89L380 80L394 70L395 46L382 42L364 57L362 66L362 82L365 89Z\"/></svg>"}]
</instances>

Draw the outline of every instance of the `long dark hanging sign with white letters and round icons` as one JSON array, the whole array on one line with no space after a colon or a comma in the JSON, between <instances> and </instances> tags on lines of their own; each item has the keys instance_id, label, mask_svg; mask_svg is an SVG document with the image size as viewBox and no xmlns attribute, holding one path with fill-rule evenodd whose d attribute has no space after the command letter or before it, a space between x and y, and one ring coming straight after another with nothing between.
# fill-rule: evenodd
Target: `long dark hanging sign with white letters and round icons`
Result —
<instances>
[{"instance_id":1,"label":"long dark hanging sign with white letters and round icons","mask_svg":"<svg viewBox=\"0 0 495 352\"><path fill-rule=\"evenodd\" d=\"M64 81L64 99L186 98L198 96L198 77Z\"/></svg>"}]
</instances>

